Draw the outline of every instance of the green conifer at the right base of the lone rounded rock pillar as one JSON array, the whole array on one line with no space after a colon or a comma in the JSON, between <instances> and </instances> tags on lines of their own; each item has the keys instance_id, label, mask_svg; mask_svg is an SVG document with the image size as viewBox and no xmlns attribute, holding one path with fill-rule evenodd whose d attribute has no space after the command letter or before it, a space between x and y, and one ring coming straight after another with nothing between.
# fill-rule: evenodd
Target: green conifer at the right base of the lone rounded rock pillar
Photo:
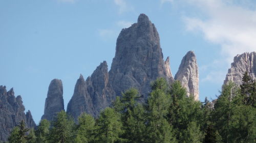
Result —
<instances>
[{"instance_id":1,"label":"green conifer at the right base of the lone rounded rock pillar","mask_svg":"<svg viewBox=\"0 0 256 143\"><path fill-rule=\"evenodd\" d=\"M60 111L54 119L52 128L50 129L49 142L73 142L73 128L74 120L71 119L65 111Z\"/></svg>"}]
</instances>

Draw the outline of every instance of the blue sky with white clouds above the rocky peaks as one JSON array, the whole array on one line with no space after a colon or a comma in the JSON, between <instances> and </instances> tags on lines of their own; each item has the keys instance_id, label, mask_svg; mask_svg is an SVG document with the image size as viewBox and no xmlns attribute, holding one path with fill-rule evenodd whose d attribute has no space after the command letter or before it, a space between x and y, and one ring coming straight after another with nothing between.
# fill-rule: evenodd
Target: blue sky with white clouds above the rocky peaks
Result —
<instances>
[{"instance_id":1,"label":"blue sky with white clouds above the rocky peaks","mask_svg":"<svg viewBox=\"0 0 256 143\"><path fill-rule=\"evenodd\" d=\"M110 68L119 32L140 13L156 25L173 75L196 53L201 101L219 94L234 55L256 51L253 0L0 0L0 85L22 95L38 123L50 81L62 80L67 107L80 73Z\"/></svg>"}]
</instances>

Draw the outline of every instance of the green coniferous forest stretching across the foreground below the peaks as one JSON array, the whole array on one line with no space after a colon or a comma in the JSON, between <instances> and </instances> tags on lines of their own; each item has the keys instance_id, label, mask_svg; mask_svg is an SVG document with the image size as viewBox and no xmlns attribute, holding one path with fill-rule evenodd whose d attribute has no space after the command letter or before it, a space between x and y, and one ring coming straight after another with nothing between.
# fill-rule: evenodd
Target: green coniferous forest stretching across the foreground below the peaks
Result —
<instances>
[{"instance_id":1,"label":"green coniferous forest stretching across the foreground below the peaks","mask_svg":"<svg viewBox=\"0 0 256 143\"><path fill-rule=\"evenodd\" d=\"M41 120L36 129L24 121L13 128L9 143L64 142L256 142L256 82L246 72L240 86L223 85L212 102L186 96L179 81L164 78L151 84L147 101L136 89L117 97L98 118L83 113L78 122L60 111L53 122Z\"/></svg>"}]
</instances>

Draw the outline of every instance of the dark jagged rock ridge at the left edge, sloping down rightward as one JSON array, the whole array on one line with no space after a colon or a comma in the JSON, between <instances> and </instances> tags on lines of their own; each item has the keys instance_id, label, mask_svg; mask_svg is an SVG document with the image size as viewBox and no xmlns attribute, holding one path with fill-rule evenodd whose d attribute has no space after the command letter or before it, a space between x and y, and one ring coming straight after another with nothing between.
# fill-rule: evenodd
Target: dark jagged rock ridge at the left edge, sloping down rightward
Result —
<instances>
[{"instance_id":1,"label":"dark jagged rock ridge at the left edge, sloping down rightward","mask_svg":"<svg viewBox=\"0 0 256 143\"><path fill-rule=\"evenodd\" d=\"M14 96L13 89L6 91L6 87L0 86L0 140L7 141L7 138L16 125L24 120L26 126L34 128L36 126L30 110L24 113L25 107L21 96Z\"/></svg>"}]
</instances>

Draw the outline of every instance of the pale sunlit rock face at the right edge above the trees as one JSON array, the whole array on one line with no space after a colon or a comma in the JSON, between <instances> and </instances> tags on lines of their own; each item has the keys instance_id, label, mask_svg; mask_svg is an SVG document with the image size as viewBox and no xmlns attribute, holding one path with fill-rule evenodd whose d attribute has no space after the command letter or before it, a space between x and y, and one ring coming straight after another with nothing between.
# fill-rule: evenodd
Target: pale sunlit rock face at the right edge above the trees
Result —
<instances>
[{"instance_id":1,"label":"pale sunlit rock face at the right edge above the trees","mask_svg":"<svg viewBox=\"0 0 256 143\"><path fill-rule=\"evenodd\" d=\"M256 52L245 52L234 57L231 68L228 69L224 84L233 81L237 85L242 83L243 74L248 71L249 75L256 79Z\"/></svg>"}]
</instances>

